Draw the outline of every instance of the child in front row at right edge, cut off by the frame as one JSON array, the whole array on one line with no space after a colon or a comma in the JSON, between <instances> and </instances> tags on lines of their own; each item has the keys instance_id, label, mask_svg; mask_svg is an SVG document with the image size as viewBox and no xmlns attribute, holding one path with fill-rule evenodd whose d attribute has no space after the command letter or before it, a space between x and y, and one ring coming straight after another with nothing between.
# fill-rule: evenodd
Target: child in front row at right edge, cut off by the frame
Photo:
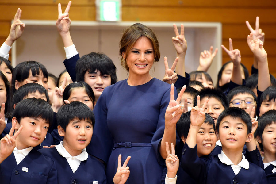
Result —
<instances>
[{"instance_id":1,"label":"child in front row at right edge, cut off by the frame","mask_svg":"<svg viewBox=\"0 0 276 184\"><path fill-rule=\"evenodd\" d=\"M263 166L267 183L276 183L276 110L269 110L259 119L259 126L254 134L264 152Z\"/></svg>"}]
</instances>

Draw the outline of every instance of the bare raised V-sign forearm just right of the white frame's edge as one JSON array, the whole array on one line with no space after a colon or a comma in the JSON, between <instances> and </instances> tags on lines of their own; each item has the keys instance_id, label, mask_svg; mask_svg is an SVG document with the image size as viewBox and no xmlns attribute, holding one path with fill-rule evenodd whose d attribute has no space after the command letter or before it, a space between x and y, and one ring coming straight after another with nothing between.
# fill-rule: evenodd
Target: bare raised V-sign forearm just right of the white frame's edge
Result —
<instances>
[{"instance_id":1,"label":"bare raised V-sign forearm just right of the white frame's edge","mask_svg":"<svg viewBox=\"0 0 276 184\"><path fill-rule=\"evenodd\" d=\"M238 49L233 50L233 44L232 44L232 39L229 38L229 50L224 47L224 45L221 45L223 50L228 54L230 59L233 62L233 71L232 71L232 77L231 81L243 85L243 79L241 75L241 68L240 68L240 63L241 63L241 58L240 58L240 51Z\"/></svg>"}]
</instances>

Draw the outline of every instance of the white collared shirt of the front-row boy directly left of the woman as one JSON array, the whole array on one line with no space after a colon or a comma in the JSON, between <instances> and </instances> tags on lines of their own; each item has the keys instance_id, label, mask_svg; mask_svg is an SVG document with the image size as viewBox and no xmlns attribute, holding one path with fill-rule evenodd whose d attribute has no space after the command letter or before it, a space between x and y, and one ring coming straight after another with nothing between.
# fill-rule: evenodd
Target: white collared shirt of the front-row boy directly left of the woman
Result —
<instances>
[{"instance_id":1,"label":"white collared shirt of the front-row boy directly left of the woman","mask_svg":"<svg viewBox=\"0 0 276 184\"><path fill-rule=\"evenodd\" d=\"M86 148L84 148L82 150L81 154L79 154L77 156L71 156L68 153L68 151L63 147L63 141L61 141L60 144L57 145L55 148L61 156L66 158L66 160L69 163L69 166L71 167L73 173L75 173L75 171L77 171L81 161L87 160L87 158L88 158L88 153L86 152Z\"/></svg>"}]
</instances>

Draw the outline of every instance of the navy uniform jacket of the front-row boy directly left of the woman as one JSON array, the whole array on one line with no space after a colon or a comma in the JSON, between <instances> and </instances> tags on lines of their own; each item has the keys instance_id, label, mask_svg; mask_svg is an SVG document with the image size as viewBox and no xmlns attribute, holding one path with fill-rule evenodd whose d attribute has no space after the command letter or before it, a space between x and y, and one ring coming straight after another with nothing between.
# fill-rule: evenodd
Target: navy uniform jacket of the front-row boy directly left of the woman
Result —
<instances>
[{"instance_id":1,"label":"navy uniform jacket of the front-row boy directly left of the woman","mask_svg":"<svg viewBox=\"0 0 276 184\"><path fill-rule=\"evenodd\" d=\"M73 173L66 158L60 155L56 148L42 148L39 151L56 163L59 184L94 184L95 181L98 184L106 183L105 166L92 155L88 154L87 160L81 161L77 171Z\"/></svg>"}]
</instances>

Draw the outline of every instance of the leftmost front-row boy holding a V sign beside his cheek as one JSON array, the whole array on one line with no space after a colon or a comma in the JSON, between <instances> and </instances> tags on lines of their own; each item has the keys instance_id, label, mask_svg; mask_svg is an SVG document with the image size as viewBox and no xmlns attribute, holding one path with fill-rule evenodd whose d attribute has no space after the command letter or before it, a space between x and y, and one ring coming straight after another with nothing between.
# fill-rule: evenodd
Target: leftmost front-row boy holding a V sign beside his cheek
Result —
<instances>
[{"instance_id":1,"label":"leftmost front-row boy holding a V sign beside his cheek","mask_svg":"<svg viewBox=\"0 0 276 184\"><path fill-rule=\"evenodd\" d=\"M13 128L1 140L1 160L6 157L0 165L2 184L57 183L54 161L33 149L44 140L52 119L51 106L42 99L28 98L16 105L13 111ZM9 137L12 137L14 129L15 137L18 136L10 142Z\"/></svg>"}]
</instances>

